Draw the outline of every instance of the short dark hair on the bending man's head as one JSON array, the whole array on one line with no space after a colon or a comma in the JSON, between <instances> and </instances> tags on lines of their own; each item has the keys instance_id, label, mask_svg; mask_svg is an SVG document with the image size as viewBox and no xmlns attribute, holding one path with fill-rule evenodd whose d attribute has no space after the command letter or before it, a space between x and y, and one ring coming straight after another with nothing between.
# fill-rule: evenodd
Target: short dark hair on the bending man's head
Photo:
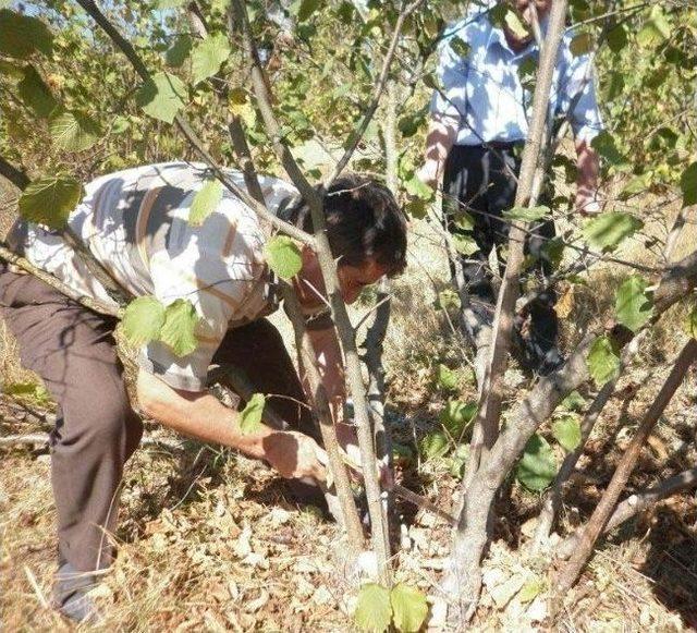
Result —
<instances>
[{"instance_id":1,"label":"short dark hair on the bending man's head","mask_svg":"<svg viewBox=\"0 0 697 633\"><path fill-rule=\"evenodd\" d=\"M313 232L305 202L290 200L279 216ZM406 266L406 218L392 192L357 173L339 176L325 194L327 238L339 264L362 266L375 259L394 277Z\"/></svg>"}]
</instances>

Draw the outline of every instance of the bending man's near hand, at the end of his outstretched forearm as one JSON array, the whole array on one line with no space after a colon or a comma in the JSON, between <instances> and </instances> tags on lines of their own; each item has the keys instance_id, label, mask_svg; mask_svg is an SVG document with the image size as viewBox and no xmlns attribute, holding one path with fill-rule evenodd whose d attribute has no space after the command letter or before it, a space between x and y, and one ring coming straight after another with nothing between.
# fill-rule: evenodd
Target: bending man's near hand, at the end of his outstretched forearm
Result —
<instances>
[{"instance_id":1,"label":"bending man's near hand, at the end of his outstretched forearm","mask_svg":"<svg viewBox=\"0 0 697 633\"><path fill-rule=\"evenodd\" d=\"M265 458L286 479L327 479L327 453L309 436L295 430L278 431L264 439Z\"/></svg>"}]
</instances>

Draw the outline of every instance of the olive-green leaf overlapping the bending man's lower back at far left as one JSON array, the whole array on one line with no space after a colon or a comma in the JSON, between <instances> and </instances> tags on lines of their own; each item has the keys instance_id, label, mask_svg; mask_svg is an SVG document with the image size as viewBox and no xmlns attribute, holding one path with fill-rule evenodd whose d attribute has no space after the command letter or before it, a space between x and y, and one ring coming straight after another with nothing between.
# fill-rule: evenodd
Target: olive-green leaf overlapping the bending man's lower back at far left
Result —
<instances>
[{"instance_id":1,"label":"olive-green leaf overlapping the bending man's lower back at far left","mask_svg":"<svg viewBox=\"0 0 697 633\"><path fill-rule=\"evenodd\" d=\"M20 215L29 222L62 229L82 193L82 185L66 175L35 180L20 197Z\"/></svg>"}]
</instances>

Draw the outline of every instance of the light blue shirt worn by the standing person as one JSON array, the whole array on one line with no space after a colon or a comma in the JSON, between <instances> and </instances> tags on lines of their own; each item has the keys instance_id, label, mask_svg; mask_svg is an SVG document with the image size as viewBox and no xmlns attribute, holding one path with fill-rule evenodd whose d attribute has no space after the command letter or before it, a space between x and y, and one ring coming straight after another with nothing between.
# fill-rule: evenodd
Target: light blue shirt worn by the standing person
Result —
<instances>
[{"instance_id":1,"label":"light blue shirt worn by the standing person","mask_svg":"<svg viewBox=\"0 0 697 633\"><path fill-rule=\"evenodd\" d=\"M542 24L542 31L546 24ZM465 57L451 44L460 38L469 46ZM570 44L562 40L550 95L553 117L568 117L576 139L590 142L601 130L592 65L587 54L574 57ZM492 26L488 13L468 15L449 27L439 46L438 76L442 92L436 90L431 113L458 121L456 145L524 141L528 132L533 95L525 89L521 65L533 73L539 49L531 42L514 52L503 31ZM530 68L530 62L535 62ZM534 75L533 75L534 76Z\"/></svg>"}]
</instances>

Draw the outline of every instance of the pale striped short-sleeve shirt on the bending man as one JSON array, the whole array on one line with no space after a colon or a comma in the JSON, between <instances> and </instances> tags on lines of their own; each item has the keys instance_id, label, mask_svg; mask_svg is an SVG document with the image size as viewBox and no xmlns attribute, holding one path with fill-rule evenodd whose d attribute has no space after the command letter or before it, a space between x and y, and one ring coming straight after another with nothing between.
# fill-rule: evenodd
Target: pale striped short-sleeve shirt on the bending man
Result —
<instances>
[{"instance_id":1,"label":"pale striped short-sleeve shirt on the bending man","mask_svg":"<svg viewBox=\"0 0 697 633\"><path fill-rule=\"evenodd\" d=\"M69 224L91 254L134 296L164 305L189 300L200 317L198 348L178 357L150 342L140 365L176 389L201 390L210 361L230 328L278 307L273 276L264 257L265 235L256 214L227 190L204 223L188 223L196 192L210 178L203 165L148 165L98 178ZM244 188L240 172L228 172ZM269 210L296 194L288 183L260 178ZM113 302L80 255L61 236L30 224L15 226L11 243L34 265L78 292Z\"/></svg>"}]
</instances>

